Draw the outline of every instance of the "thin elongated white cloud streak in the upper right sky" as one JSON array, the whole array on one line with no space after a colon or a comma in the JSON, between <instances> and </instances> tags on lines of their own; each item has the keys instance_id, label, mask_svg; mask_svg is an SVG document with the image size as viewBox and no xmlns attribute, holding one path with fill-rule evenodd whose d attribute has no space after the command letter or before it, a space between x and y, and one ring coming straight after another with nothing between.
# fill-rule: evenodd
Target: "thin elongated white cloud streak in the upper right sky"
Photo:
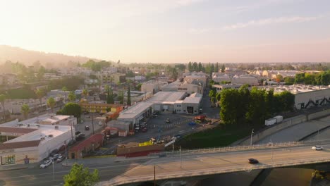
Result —
<instances>
[{"instance_id":1,"label":"thin elongated white cloud streak in the upper right sky","mask_svg":"<svg viewBox=\"0 0 330 186\"><path fill-rule=\"evenodd\" d=\"M233 25L226 25L223 27L223 29L236 30L238 28L244 28L250 26L271 25L271 24L279 24L279 23L302 23L311 20L317 20L319 18L322 18L322 16L315 16L315 17L293 16L293 17L267 18L261 20L250 20L247 23L236 23Z\"/></svg>"}]
</instances>

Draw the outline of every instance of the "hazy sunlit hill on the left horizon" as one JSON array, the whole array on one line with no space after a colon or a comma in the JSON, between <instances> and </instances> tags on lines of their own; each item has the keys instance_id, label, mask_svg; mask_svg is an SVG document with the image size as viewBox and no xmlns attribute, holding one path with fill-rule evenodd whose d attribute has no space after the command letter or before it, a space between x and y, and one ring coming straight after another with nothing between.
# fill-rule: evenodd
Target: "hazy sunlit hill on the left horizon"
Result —
<instances>
[{"instance_id":1,"label":"hazy sunlit hill on the left horizon","mask_svg":"<svg viewBox=\"0 0 330 186\"><path fill-rule=\"evenodd\" d=\"M85 63L89 59L100 61L95 58L84 56L68 56L64 54L45 53L42 51L30 51L8 45L0 45L0 64L6 61L23 63L25 66L32 66L33 63L39 61L46 68L56 68L63 66L71 66L70 63ZM70 63L69 63L70 61Z\"/></svg>"}]
</instances>

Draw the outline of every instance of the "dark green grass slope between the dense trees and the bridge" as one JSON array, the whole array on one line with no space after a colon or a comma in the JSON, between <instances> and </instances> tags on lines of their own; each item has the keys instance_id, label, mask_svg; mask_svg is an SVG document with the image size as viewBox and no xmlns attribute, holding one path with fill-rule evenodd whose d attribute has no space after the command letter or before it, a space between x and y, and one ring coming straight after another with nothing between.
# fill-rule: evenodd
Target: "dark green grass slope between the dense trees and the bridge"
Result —
<instances>
[{"instance_id":1,"label":"dark green grass slope between the dense trees and the bridge","mask_svg":"<svg viewBox=\"0 0 330 186\"><path fill-rule=\"evenodd\" d=\"M251 134L252 128L243 128L233 125L196 132L183 137L179 145L185 149L196 149L204 147L224 147Z\"/></svg>"}]
</instances>

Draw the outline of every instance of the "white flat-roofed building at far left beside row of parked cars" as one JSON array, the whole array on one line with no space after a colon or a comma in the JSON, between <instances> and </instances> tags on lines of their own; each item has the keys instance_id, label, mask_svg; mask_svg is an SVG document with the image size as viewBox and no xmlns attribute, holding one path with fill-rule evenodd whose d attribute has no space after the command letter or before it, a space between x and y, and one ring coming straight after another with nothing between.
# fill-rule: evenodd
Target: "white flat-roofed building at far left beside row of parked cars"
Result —
<instances>
[{"instance_id":1,"label":"white flat-roofed building at far left beside row of parked cars","mask_svg":"<svg viewBox=\"0 0 330 186\"><path fill-rule=\"evenodd\" d=\"M11 138L0 144L0 166L37 163L73 140L75 128L72 126L44 125L34 121L13 120L0 125L1 136Z\"/></svg>"}]
</instances>

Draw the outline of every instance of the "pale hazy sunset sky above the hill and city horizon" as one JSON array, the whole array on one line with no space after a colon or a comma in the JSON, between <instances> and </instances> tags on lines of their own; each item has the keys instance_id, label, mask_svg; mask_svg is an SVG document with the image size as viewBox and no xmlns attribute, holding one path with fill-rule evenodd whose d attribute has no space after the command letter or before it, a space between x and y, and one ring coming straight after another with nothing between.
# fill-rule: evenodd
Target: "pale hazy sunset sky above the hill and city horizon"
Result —
<instances>
[{"instance_id":1,"label":"pale hazy sunset sky above the hill and city horizon","mask_svg":"<svg viewBox=\"0 0 330 186\"><path fill-rule=\"evenodd\" d=\"M0 0L0 44L124 63L330 61L330 1Z\"/></svg>"}]
</instances>

